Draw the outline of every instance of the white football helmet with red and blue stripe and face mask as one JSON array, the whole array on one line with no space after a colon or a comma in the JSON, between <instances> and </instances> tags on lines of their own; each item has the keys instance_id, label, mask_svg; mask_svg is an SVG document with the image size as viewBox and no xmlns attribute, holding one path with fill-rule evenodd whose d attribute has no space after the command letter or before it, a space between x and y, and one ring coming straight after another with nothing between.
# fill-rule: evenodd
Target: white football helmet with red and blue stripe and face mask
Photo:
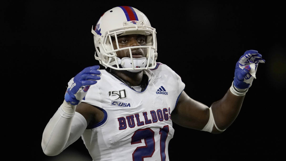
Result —
<instances>
[{"instance_id":1,"label":"white football helmet with red and blue stripe and face mask","mask_svg":"<svg viewBox=\"0 0 286 161\"><path fill-rule=\"evenodd\" d=\"M94 45L96 48L94 57L105 68L139 72L156 67L156 29L151 27L148 18L138 9L129 6L119 6L106 11L96 23L96 27L92 27L92 34L94 34ZM146 46L119 48L117 36L129 34L145 35ZM116 41L117 49L115 50L111 36ZM133 48L147 48L147 58L132 58L131 49ZM130 58L118 58L116 52L120 50L129 50Z\"/></svg>"}]
</instances>

